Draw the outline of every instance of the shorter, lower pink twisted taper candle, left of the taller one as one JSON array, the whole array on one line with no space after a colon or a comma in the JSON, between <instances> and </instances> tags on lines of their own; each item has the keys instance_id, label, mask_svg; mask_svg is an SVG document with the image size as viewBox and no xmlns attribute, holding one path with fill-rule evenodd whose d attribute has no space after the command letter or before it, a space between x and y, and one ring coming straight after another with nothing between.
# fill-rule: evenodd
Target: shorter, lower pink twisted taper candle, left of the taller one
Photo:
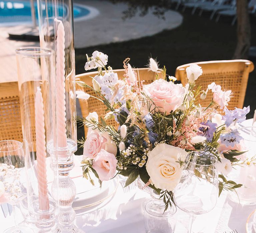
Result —
<instances>
[{"instance_id":1,"label":"shorter, lower pink twisted taper candle, left of the taller one","mask_svg":"<svg viewBox=\"0 0 256 233\"><path fill-rule=\"evenodd\" d=\"M49 210L49 198L46 177L46 144L44 129L44 104L39 87L35 97L35 131L36 131L36 159L39 209Z\"/></svg>"}]
</instances>

